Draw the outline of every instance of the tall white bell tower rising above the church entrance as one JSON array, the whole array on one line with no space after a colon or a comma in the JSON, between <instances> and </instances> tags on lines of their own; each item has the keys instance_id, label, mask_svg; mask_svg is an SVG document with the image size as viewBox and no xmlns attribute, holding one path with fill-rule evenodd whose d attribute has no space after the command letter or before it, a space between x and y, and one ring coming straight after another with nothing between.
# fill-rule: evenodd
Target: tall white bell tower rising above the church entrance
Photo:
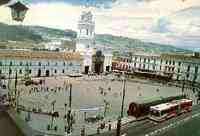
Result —
<instances>
[{"instance_id":1,"label":"tall white bell tower rising above the church entrance","mask_svg":"<svg viewBox=\"0 0 200 136\"><path fill-rule=\"evenodd\" d=\"M82 12L78 21L78 35L76 42L76 51L85 52L89 48L93 48L95 37L95 21L91 11L88 10L88 4L85 11Z\"/></svg>"}]
</instances>

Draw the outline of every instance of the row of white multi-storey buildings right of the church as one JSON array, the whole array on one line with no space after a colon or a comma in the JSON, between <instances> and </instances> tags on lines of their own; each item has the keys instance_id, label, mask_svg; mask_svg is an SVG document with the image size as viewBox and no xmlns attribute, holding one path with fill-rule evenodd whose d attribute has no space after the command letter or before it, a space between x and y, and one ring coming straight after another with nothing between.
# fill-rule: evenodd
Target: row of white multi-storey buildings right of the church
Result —
<instances>
[{"instance_id":1,"label":"row of white multi-storey buildings right of the church","mask_svg":"<svg viewBox=\"0 0 200 136\"><path fill-rule=\"evenodd\" d=\"M200 57L177 54L137 55L113 61L113 69L149 72L169 76L173 80L188 80L200 83Z\"/></svg>"}]
</instances>

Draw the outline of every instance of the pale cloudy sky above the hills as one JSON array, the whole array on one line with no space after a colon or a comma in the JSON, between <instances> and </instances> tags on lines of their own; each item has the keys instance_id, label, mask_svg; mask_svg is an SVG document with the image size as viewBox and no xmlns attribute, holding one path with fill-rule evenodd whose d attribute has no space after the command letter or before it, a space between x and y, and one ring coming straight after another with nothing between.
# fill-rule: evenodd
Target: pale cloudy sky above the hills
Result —
<instances>
[{"instance_id":1,"label":"pale cloudy sky above the hills","mask_svg":"<svg viewBox=\"0 0 200 136\"><path fill-rule=\"evenodd\" d=\"M23 25L77 30L87 0L23 0L29 10ZM200 0L88 0L97 34L200 50ZM0 22L12 21L0 6Z\"/></svg>"}]
</instances>

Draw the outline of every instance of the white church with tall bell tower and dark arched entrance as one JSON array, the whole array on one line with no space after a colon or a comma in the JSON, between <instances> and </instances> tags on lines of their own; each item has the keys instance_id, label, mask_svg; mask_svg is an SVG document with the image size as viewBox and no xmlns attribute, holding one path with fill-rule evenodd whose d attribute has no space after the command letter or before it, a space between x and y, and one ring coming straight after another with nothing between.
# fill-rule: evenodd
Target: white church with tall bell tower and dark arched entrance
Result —
<instances>
[{"instance_id":1,"label":"white church with tall bell tower and dark arched entrance","mask_svg":"<svg viewBox=\"0 0 200 136\"><path fill-rule=\"evenodd\" d=\"M91 11L83 11L78 21L78 35L76 51L83 58L82 71L86 74L95 72L97 74L111 71L112 53L95 49L95 21Z\"/></svg>"}]
</instances>

